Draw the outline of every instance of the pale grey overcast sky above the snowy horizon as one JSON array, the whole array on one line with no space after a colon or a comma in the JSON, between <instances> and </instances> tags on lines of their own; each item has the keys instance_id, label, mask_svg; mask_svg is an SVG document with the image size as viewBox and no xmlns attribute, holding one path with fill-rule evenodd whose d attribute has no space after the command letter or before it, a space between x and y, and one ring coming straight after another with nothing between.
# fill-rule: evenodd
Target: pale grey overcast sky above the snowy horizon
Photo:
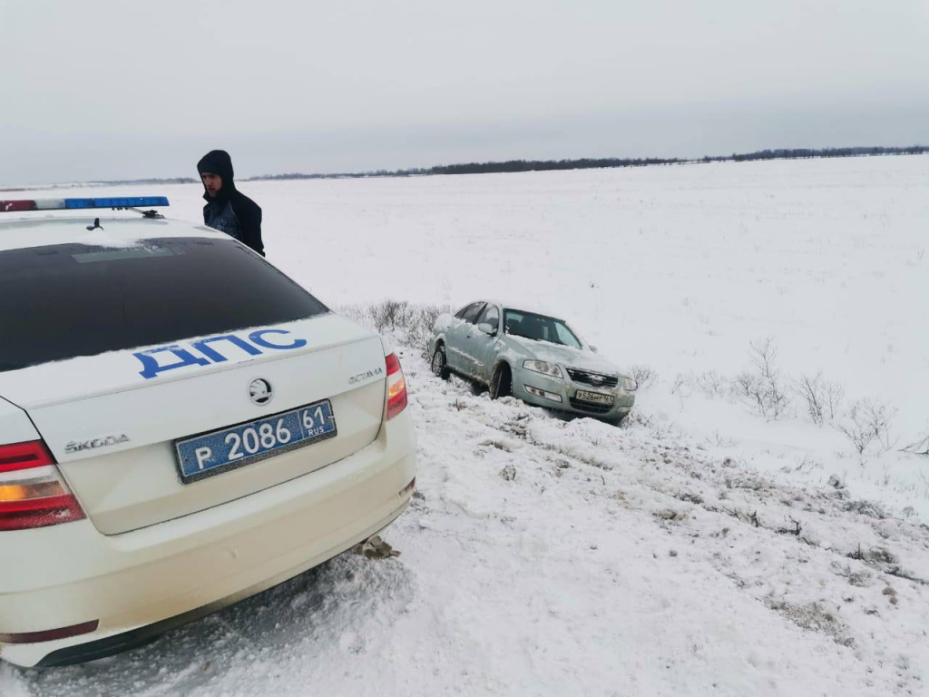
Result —
<instances>
[{"instance_id":1,"label":"pale grey overcast sky above the snowy horizon","mask_svg":"<svg viewBox=\"0 0 929 697\"><path fill-rule=\"evenodd\" d=\"M0 0L0 185L929 144L929 0Z\"/></svg>"}]
</instances>

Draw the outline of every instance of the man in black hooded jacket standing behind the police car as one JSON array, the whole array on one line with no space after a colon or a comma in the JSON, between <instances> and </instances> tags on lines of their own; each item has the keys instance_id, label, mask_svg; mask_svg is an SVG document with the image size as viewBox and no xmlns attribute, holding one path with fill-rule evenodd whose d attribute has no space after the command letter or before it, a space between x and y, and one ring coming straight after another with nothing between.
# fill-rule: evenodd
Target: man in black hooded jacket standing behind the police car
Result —
<instances>
[{"instance_id":1,"label":"man in black hooded jacket standing behind the police car","mask_svg":"<svg viewBox=\"0 0 929 697\"><path fill-rule=\"evenodd\" d=\"M265 256L261 242L261 208L235 188L232 159L224 150L209 151L197 163L203 180L203 222Z\"/></svg>"}]
</instances>

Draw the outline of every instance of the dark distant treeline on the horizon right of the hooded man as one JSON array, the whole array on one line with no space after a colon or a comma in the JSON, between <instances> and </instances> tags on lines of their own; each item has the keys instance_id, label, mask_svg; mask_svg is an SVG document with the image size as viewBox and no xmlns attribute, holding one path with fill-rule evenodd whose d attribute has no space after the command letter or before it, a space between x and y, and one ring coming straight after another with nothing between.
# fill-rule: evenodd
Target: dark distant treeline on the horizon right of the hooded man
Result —
<instances>
[{"instance_id":1,"label":"dark distant treeline on the horizon right of the hooded man","mask_svg":"<svg viewBox=\"0 0 929 697\"><path fill-rule=\"evenodd\" d=\"M781 148L757 152L733 153L711 157L707 155L698 160L678 157L584 157L579 160L507 160L505 162L484 162L464 164L439 164L435 167L412 169L378 169L372 172L352 172L342 174L281 174L253 177L256 179L336 179L360 177L425 177L429 175L489 174L501 172L543 172L553 169L602 169L605 167L642 167L648 164L694 164L711 162L751 162L752 160L799 160L814 157L862 157L870 155L919 155L929 152L929 146L911 145L907 148Z\"/></svg>"}]
</instances>

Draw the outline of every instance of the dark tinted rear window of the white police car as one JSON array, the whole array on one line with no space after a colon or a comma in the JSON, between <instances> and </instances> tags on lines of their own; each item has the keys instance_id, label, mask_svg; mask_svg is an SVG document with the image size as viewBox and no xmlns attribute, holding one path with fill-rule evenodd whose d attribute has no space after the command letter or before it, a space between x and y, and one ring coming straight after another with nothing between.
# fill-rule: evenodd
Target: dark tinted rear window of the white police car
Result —
<instances>
[{"instance_id":1,"label":"dark tinted rear window of the white police car","mask_svg":"<svg viewBox=\"0 0 929 697\"><path fill-rule=\"evenodd\" d=\"M329 310L232 240L0 252L0 372Z\"/></svg>"}]
</instances>

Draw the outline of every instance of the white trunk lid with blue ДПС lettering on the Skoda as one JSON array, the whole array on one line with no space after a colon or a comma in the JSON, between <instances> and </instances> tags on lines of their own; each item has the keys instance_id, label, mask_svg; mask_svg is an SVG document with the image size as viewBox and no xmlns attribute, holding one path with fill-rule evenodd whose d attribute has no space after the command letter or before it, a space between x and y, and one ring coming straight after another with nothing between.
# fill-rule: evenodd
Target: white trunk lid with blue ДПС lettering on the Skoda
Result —
<instances>
[{"instance_id":1,"label":"white trunk lid with blue \u0414\u041f\u0421 lettering on the Skoda","mask_svg":"<svg viewBox=\"0 0 929 697\"><path fill-rule=\"evenodd\" d=\"M334 314L0 374L101 533L218 506L326 467L381 427L380 337ZM272 399L249 387L264 380ZM175 441L328 400L334 438L182 483Z\"/></svg>"}]
</instances>

